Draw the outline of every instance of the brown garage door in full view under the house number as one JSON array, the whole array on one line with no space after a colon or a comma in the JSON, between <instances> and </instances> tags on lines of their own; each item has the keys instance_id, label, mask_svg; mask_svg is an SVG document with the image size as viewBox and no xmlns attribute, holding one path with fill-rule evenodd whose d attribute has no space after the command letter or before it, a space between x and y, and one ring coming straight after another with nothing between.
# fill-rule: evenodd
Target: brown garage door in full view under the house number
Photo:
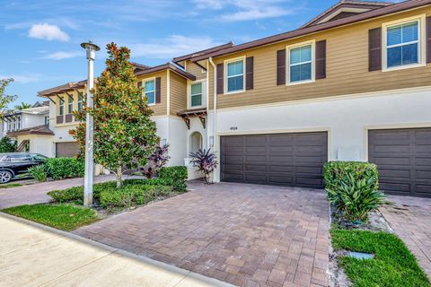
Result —
<instances>
[{"instance_id":1,"label":"brown garage door in full view under the house number","mask_svg":"<svg viewBox=\"0 0 431 287\"><path fill-rule=\"evenodd\" d=\"M222 136L220 146L223 181L323 187L326 132Z\"/></svg>"}]
</instances>

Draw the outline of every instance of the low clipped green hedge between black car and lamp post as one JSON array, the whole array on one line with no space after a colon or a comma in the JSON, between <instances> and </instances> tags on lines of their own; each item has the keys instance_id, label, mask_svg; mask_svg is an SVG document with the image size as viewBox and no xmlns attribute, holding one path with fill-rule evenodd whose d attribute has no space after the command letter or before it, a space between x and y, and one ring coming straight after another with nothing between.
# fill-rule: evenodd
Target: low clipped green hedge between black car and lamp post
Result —
<instances>
[{"instance_id":1,"label":"low clipped green hedge between black car and lamp post","mask_svg":"<svg viewBox=\"0 0 431 287\"><path fill-rule=\"evenodd\" d=\"M84 162L75 158L51 158L46 164L48 175L54 179L84 176Z\"/></svg>"}]
</instances>

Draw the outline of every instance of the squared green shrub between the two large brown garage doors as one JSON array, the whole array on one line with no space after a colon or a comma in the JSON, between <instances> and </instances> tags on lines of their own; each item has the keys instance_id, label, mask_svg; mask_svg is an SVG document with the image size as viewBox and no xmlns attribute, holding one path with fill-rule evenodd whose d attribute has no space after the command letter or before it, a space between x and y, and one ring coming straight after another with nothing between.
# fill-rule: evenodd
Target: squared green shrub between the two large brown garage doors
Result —
<instances>
[{"instance_id":1,"label":"squared green shrub between the two large brown garage doors","mask_svg":"<svg viewBox=\"0 0 431 287\"><path fill-rule=\"evenodd\" d=\"M379 174L373 163L330 161L323 168L328 199L347 220L366 221L368 213L384 203L378 191Z\"/></svg>"}]
</instances>

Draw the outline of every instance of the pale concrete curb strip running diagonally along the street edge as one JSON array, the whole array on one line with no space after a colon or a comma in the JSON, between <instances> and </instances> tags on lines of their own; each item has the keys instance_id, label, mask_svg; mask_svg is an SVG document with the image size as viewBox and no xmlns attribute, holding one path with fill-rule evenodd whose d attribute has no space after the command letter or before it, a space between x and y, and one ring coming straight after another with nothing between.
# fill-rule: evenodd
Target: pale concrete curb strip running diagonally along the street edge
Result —
<instances>
[{"instance_id":1,"label":"pale concrete curb strip running diagonally along the street edge","mask_svg":"<svg viewBox=\"0 0 431 287\"><path fill-rule=\"evenodd\" d=\"M0 217L12 220L14 222L20 222L20 223L23 223L25 225L28 225L28 226L31 226L31 227L34 227L37 229L45 230L45 231L48 231L52 234L64 237L66 239L73 239L75 241L79 241L81 243L90 245L94 248L101 248L103 250L110 251L111 253L116 253L116 254L119 254L119 255L124 256L124 257L136 259L139 262L146 263L148 265L154 265L156 267L159 267L161 269L167 270L167 271L172 272L172 273L184 275L184 278L189 277L192 279L197 279L198 281L201 281L202 283L208 283L212 286L219 286L219 287L234 287L235 286L233 284L224 283L224 282L217 280L215 278L211 278L211 277L207 277L207 276L202 275L202 274L194 273L194 272L191 272L191 271L186 270L186 269L182 269L182 268L174 266L174 265L169 265L169 264L166 264L166 263L163 263L160 261L156 261L156 260L149 258L149 257L140 256L140 255L137 255L137 254L134 254L134 253L131 253L131 252L119 249L119 248L113 248L113 247L110 247L109 245L102 244L102 243L94 241L92 239L86 239L86 238L81 237L79 235L76 235L74 233L70 233L70 232L63 231L63 230L57 230L55 228L40 224L38 222L31 222L29 220L26 220L26 219L23 219L21 217L17 217L17 216L8 214L8 213L0 212Z\"/></svg>"}]
</instances>

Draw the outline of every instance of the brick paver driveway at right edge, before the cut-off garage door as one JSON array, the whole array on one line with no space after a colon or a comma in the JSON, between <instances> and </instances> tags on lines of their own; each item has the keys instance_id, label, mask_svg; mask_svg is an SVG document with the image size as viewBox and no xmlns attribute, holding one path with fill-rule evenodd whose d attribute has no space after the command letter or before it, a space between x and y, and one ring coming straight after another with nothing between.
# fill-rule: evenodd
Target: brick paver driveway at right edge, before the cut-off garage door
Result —
<instances>
[{"instance_id":1,"label":"brick paver driveway at right edge, before the cut-off garage door","mask_svg":"<svg viewBox=\"0 0 431 287\"><path fill-rule=\"evenodd\" d=\"M431 278L431 198L388 196L380 210Z\"/></svg>"}]
</instances>

